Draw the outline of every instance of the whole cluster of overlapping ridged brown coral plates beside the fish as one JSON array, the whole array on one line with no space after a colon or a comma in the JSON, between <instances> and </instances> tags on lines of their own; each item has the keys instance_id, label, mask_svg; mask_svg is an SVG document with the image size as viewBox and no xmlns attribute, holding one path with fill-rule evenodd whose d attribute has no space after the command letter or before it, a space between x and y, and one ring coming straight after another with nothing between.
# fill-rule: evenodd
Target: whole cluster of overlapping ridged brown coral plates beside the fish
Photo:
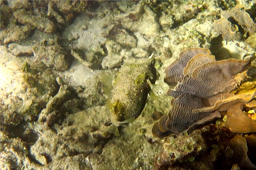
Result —
<instances>
[{"instance_id":1,"label":"whole cluster of overlapping ridged brown coral plates beside the fish","mask_svg":"<svg viewBox=\"0 0 256 170\"><path fill-rule=\"evenodd\" d=\"M247 77L246 72L251 60L215 61L207 48L188 48L180 52L179 58L166 68L167 75L164 79L169 85L177 83L175 89L169 89L167 92L167 95L174 97L172 109L168 116L163 116L153 126L152 133L158 137L183 131L190 133L196 126L220 118L219 111L227 111L228 116L230 112L234 113L234 110L238 112L237 107L233 108L233 105L256 107L253 100L255 88L237 94L231 92ZM240 112L243 113L241 109ZM255 132L256 121L246 121L252 127L243 132ZM230 129L232 130L231 126Z\"/></svg>"}]
</instances>

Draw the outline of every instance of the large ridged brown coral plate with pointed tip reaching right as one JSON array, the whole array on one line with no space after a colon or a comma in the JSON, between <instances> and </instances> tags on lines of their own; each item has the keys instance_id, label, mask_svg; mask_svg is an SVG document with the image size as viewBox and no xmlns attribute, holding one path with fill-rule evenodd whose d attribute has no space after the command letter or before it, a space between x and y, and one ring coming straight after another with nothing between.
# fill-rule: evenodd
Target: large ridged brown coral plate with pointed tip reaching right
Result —
<instances>
[{"instance_id":1,"label":"large ridged brown coral plate with pointed tip reaching right","mask_svg":"<svg viewBox=\"0 0 256 170\"><path fill-rule=\"evenodd\" d=\"M175 98L183 93L190 93L201 98L207 98L220 92L229 92L236 88L244 79L241 74L239 79L234 77L248 69L250 60L227 59L209 62L195 68L192 75L186 75L182 83L170 89L168 94Z\"/></svg>"}]
</instances>

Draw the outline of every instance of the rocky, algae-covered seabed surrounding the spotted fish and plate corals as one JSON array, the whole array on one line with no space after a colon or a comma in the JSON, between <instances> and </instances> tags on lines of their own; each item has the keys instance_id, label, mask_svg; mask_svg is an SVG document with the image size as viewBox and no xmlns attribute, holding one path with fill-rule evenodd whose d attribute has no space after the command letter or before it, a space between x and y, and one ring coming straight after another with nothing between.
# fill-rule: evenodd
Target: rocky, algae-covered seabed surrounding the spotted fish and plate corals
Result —
<instances>
[{"instance_id":1,"label":"rocky, algae-covered seabed surrounding the spotted fish and plate corals","mask_svg":"<svg viewBox=\"0 0 256 170\"><path fill-rule=\"evenodd\" d=\"M210 50L195 57L187 53L192 58L182 67L180 82L197 65L230 58L248 61L255 56L255 34L248 31L246 37L226 42L214 31L212 24L221 18L221 10L230 11L236 5L244 6L244 17L245 13L255 17L253 1L1 0L0 169L239 169L239 161L227 147L236 136L247 140L247 156L256 164L254 139L230 131L234 129L230 121L235 119L229 119L227 111L189 134L166 136L172 133L167 131L160 139L151 133L161 116L168 119L175 102L166 96L169 85L163 81L164 68L180 51L190 47ZM244 36L240 21L226 19ZM159 77L157 88L151 87L156 98L147 96L140 116L119 126L119 137L107 133L111 119L102 75L118 79L128 59L151 55ZM143 68L147 65L143 63ZM204 105L192 111L195 115L220 110L221 101L225 106L241 106L242 112L236 115L244 114L245 123L250 124L255 118L255 73L252 61L251 78L229 95L208 97L209 107L204 107L205 99L191 95L177 97L176 103L195 99L195 106ZM137 80L143 78L149 77ZM236 125L247 127L237 121Z\"/></svg>"}]
</instances>

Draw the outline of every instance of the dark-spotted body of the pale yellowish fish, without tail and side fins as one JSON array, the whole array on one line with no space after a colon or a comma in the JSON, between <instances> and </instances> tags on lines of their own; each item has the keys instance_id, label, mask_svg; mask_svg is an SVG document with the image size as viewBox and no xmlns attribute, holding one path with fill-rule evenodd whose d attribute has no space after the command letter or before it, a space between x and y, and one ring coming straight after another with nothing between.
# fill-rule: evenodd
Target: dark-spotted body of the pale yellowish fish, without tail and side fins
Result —
<instances>
[{"instance_id":1,"label":"dark-spotted body of the pale yellowish fish, without tail and side fins","mask_svg":"<svg viewBox=\"0 0 256 170\"><path fill-rule=\"evenodd\" d=\"M111 122L119 126L127 119L136 119L145 107L148 93L156 80L154 58L129 57L113 81L112 96L109 99Z\"/></svg>"}]
</instances>

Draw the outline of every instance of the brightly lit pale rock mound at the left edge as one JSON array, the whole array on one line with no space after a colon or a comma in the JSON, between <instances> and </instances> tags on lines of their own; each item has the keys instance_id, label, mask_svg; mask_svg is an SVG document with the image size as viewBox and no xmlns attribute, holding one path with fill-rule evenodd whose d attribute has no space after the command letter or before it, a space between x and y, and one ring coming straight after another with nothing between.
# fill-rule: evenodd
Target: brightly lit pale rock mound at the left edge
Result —
<instances>
[{"instance_id":1,"label":"brightly lit pale rock mound at the left edge","mask_svg":"<svg viewBox=\"0 0 256 170\"><path fill-rule=\"evenodd\" d=\"M45 101L58 88L55 77L44 64L14 57L3 47L1 49L0 74L4 80L0 83L1 125L35 121Z\"/></svg>"}]
</instances>

